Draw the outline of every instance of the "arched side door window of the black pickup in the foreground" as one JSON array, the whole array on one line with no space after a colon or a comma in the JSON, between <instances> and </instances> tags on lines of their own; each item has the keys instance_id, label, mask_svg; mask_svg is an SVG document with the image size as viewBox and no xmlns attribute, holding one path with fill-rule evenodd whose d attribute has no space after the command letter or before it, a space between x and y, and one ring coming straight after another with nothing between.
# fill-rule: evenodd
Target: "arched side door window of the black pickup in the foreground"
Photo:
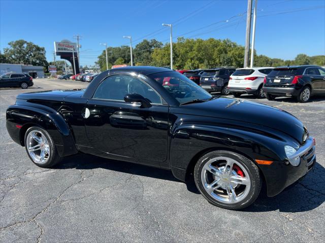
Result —
<instances>
[{"instance_id":1,"label":"arched side door window of the black pickup in the foreground","mask_svg":"<svg viewBox=\"0 0 325 243\"><path fill-rule=\"evenodd\" d=\"M160 96L140 79L128 75L112 75L103 80L93 99L124 101L127 94L139 94L150 103L162 104Z\"/></svg>"}]
</instances>

